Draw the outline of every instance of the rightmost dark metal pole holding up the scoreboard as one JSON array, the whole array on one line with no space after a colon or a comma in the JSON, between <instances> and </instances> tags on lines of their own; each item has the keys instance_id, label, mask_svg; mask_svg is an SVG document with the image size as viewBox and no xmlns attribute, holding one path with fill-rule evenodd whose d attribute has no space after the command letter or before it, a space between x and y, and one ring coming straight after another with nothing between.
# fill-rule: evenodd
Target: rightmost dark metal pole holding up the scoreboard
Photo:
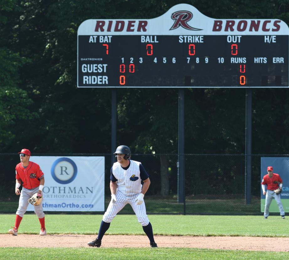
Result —
<instances>
[{"instance_id":1,"label":"rightmost dark metal pole holding up the scoreboard","mask_svg":"<svg viewBox=\"0 0 289 260\"><path fill-rule=\"evenodd\" d=\"M251 204L252 170L252 89L246 88L246 126L245 126L245 204Z\"/></svg>"}]
</instances>

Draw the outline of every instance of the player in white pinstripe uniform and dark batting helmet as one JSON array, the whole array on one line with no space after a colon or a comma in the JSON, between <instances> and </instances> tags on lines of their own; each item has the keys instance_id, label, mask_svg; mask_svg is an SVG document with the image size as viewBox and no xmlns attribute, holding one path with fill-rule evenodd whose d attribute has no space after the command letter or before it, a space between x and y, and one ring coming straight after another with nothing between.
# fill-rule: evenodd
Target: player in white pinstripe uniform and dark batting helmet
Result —
<instances>
[{"instance_id":1,"label":"player in white pinstripe uniform and dark batting helmet","mask_svg":"<svg viewBox=\"0 0 289 260\"><path fill-rule=\"evenodd\" d=\"M157 247L144 202L144 195L150 186L149 175L140 162L130 160L131 152L128 146L118 146L114 154L116 154L117 162L110 170L111 201L102 217L97 238L89 242L88 246L101 246L102 237L108 230L110 222L129 203L150 240L150 246ZM141 181L144 182L143 185L141 185Z\"/></svg>"}]
</instances>

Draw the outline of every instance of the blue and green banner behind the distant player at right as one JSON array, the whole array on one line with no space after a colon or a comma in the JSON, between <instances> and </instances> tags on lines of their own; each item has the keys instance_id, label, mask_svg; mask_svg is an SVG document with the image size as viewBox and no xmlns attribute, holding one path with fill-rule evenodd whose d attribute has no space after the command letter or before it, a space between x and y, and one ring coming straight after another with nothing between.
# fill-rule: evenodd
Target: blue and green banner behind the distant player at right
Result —
<instances>
[{"instance_id":1,"label":"blue and green banner behind the distant player at right","mask_svg":"<svg viewBox=\"0 0 289 260\"><path fill-rule=\"evenodd\" d=\"M273 167L273 173L280 175L283 181L281 202L285 212L289 212L289 157L261 157L261 182L263 177L268 174L267 167ZM265 195L263 195L262 187L260 185L261 193L261 212L265 208ZM267 188L266 188L267 190ZM270 212L279 212L278 205L273 199L270 205Z\"/></svg>"}]
</instances>

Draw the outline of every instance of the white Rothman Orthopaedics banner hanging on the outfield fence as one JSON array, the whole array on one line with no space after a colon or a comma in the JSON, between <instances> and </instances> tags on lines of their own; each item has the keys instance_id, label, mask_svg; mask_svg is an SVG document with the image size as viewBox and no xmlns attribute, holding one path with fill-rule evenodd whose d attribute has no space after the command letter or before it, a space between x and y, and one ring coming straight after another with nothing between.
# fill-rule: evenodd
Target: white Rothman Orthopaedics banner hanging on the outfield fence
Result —
<instances>
[{"instance_id":1,"label":"white Rothman Orthopaedics banner hanging on the outfield fence","mask_svg":"<svg viewBox=\"0 0 289 260\"><path fill-rule=\"evenodd\" d=\"M104 211L104 157L33 156L44 173L44 211ZM28 211L34 211L29 204Z\"/></svg>"}]
</instances>

